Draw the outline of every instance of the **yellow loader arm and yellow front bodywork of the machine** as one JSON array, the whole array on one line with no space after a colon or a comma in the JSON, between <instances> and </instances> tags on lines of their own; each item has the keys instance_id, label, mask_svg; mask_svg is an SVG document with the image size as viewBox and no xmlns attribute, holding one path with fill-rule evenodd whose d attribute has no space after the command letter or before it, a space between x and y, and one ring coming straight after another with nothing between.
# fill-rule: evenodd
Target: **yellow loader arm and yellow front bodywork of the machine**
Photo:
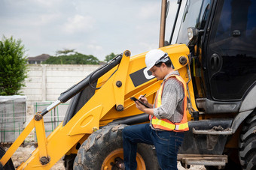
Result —
<instances>
[{"instance_id":1,"label":"yellow loader arm and yellow front bodywork of the machine","mask_svg":"<svg viewBox=\"0 0 256 170\"><path fill-rule=\"evenodd\" d=\"M187 55L189 49L187 46L172 45L161 49L169 54L175 70L178 70L181 77L188 82L187 70L190 68L188 67ZM43 119L35 121L34 118L2 157L2 165L7 163L34 126L37 132L38 148L18 169L50 169L63 155L77 153L78 150L75 149L77 143L83 143L91 133L99 130L100 127L118 118L141 114L139 109L136 109L133 100L130 100L130 97L147 94L148 101L154 103L154 96L160 87L161 81L151 79L135 87L130 78L131 73L145 68L146 53L131 58L125 55L127 53L130 52L123 52L120 64L98 79L97 86L101 86L101 88L65 126L59 124L53 133L45 138ZM187 59L186 64L180 64L181 57ZM113 75L111 76L111 74ZM121 82L120 87L117 87L117 81ZM188 82L187 89L193 91L192 82ZM190 98L192 106L196 108L193 93L190 93ZM117 111L118 106L123 106L123 111ZM190 114L187 115L188 120L190 120Z\"/></svg>"}]
</instances>

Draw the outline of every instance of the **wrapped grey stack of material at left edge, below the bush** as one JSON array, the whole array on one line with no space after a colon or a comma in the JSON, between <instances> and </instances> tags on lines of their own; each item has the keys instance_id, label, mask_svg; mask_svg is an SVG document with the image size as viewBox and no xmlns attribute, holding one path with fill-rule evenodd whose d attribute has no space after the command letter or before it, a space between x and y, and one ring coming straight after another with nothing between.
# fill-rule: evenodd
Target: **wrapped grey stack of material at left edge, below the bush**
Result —
<instances>
[{"instance_id":1,"label":"wrapped grey stack of material at left edge, below the bush","mask_svg":"<svg viewBox=\"0 0 256 170\"><path fill-rule=\"evenodd\" d=\"M26 122L26 96L0 96L0 142L14 142Z\"/></svg>"}]
</instances>

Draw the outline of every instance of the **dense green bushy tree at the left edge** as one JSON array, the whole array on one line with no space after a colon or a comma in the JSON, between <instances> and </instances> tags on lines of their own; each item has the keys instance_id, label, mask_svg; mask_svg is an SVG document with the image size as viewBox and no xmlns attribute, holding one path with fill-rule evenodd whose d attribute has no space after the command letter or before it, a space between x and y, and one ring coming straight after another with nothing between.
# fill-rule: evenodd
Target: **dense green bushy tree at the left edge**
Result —
<instances>
[{"instance_id":1,"label":"dense green bushy tree at the left edge","mask_svg":"<svg viewBox=\"0 0 256 170\"><path fill-rule=\"evenodd\" d=\"M19 94L25 86L26 56L21 40L2 37L0 41L0 95Z\"/></svg>"}]
</instances>

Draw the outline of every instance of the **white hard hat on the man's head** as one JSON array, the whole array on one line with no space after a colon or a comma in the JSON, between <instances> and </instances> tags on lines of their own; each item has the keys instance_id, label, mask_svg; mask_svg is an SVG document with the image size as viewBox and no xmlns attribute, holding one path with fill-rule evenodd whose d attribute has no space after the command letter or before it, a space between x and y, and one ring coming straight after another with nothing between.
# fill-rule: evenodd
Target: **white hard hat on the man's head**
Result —
<instances>
[{"instance_id":1,"label":"white hard hat on the man's head","mask_svg":"<svg viewBox=\"0 0 256 170\"><path fill-rule=\"evenodd\" d=\"M160 58L168 56L166 52L163 52L161 49L152 49L145 56L145 63L147 69L151 69Z\"/></svg>"}]
</instances>

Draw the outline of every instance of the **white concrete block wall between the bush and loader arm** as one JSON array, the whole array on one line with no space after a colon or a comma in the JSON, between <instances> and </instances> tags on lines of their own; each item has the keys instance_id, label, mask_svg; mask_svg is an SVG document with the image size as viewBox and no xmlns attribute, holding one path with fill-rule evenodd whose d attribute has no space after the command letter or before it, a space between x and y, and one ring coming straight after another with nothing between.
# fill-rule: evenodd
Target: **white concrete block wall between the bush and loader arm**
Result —
<instances>
[{"instance_id":1,"label":"white concrete block wall between the bush and loader arm","mask_svg":"<svg viewBox=\"0 0 256 170\"><path fill-rule=\"evenodd\" d=\"M29 64L26 87L21 91L27 97L27 104L41 101L56 101L59 95L80 82L99 65L55 65Z\"/></svg>"}]
</instances>

